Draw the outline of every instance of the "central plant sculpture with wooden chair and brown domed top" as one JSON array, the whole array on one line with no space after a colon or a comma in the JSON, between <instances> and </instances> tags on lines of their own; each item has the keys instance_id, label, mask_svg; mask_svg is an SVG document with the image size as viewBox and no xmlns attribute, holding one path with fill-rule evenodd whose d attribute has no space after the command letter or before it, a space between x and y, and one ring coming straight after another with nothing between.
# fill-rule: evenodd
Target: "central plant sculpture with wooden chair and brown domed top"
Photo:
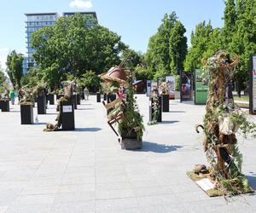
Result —
<instances>
[{"instance_id":1,"label":"central plant sculpture with wooden chair and brown domed top","mask_svg":"<svg viewBox=\"0 0 256 213\"><path fill-rule=\"evenodd\" d=\"M118 97L117 99L110 98L109 103L105 104L105 107L106 105L111 106L111 108L106 107L108 111L108 124L111 125L118 120L118 123L115 124L118 124L118 131L121 136L119 142L121 148L127 150L136 150L143 147L143 117L138 111L132 85L135 72L125 70L121 66L116 66L112 67L101 77L105 80L102 87L105 89L105 93L116 94L115 96ZM121 85L125 87L126 98L119 94ZM113 131L117 134L115 130Z\"/></svg>"}]
</instances>

